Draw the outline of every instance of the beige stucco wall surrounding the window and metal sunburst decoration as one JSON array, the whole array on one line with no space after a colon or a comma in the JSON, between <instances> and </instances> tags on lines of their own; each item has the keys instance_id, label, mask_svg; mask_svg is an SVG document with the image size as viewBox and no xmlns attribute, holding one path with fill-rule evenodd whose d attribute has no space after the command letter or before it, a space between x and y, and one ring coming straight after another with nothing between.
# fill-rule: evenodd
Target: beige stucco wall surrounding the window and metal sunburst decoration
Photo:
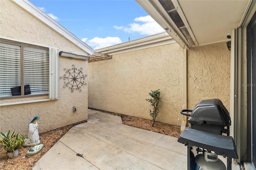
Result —
<instances>
[{"instance_id":1,"label":"beige stucco wall surrounding the window and metal sunburst decoration","mask_svg":"<svg viewBox=\"0 0 256 170\"><path fill-rule=\"evenodd\" d=\"M76 47L66 38L57 34L9 0L1 1L0 15L1 36L58 47L59 51L87 55L85 51ZM83 74L88 75L88 63L86 60L59 57L59 99L1 106L0 130L6 132L9 129L16 129L20 133L27 133L28 124L36 115L40 117L38 121L40 133L86 120L88 118L88 85L81 86L81 92L74 90L72 93L67 87L63 88L64 80L60 79L65 73L64 68L71 69L72 64L78 69L82 67ZM85 82L88 82L87 77ZM1 103L35 101L36 99L48 99L48 96L1 99ZM72 112L73 106L76 106L76 112Z\"/></svg>"}]
</instances>

